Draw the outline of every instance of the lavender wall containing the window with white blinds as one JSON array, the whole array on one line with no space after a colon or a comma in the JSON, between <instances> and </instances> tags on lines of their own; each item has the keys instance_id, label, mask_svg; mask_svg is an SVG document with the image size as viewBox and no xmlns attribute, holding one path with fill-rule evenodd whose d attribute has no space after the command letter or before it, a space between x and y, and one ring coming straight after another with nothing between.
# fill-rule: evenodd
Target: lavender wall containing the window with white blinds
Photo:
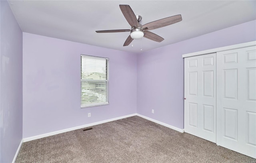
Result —
<instances>
[{"instance_id":1,"label":"lavender wall containing the window with white blinds","mask_svg":"<svg viewBox=\"0 0 256 163\"><path fill-rule=\"evenodd\" d=\"M109 105L80 108L80 54L109 58ZM133 53L23 33L23 138L136 113L136 69Z\"/></svg>"}]
</instances>

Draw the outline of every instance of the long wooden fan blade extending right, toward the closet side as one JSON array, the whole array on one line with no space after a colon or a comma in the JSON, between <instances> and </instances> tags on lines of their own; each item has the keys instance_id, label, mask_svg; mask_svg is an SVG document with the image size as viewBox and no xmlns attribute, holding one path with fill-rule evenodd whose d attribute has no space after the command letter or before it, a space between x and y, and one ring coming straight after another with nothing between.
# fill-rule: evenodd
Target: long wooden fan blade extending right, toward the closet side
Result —
<instances>
[{"instance_id":1,"label":"long wooden fan blade extending right, toward the closet side","mask_svg":"<svg viewBox=\"0 0 256 163\"><path fill-rule=\"evenodd\" d=\"M174 23L177 23L180 21L182 21L181 15L170 16L168 18L164 18L164 19L160 19L160 20L156 20L154 22L144 24L142 26L142 28L144 28L144 30L146 30L146 31L149 31L152 29L169 26L171 24L174 24Z\"/></svg>"}]
</instances>

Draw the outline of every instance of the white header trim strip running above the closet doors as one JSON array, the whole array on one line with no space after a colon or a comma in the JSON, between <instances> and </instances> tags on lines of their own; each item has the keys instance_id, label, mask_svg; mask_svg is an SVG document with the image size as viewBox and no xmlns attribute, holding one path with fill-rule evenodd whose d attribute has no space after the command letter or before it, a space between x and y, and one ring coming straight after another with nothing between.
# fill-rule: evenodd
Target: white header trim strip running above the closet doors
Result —
<instances>
[{"instance_id":1,"label":"white header trim strip running above the closet doors","mask_svg":"<svg viewBox=\"0 0 256 163\"><path fill-rule=\"evenodd\" d=\"M204 50L204 51L197 51L194 53L183 54L182 58L192 57L192 56L196 56L196 55L204 55L204 54L209 54L209 53L216 53L219 51L226 51L226 50L238 49L238 48L255 46L255 45L256 45L256 41L250 41L250 42L246 42L246 43L239 43L236 45L218 47L215 49L208 49L208 50Z\"/></svg>"}]
</instances>

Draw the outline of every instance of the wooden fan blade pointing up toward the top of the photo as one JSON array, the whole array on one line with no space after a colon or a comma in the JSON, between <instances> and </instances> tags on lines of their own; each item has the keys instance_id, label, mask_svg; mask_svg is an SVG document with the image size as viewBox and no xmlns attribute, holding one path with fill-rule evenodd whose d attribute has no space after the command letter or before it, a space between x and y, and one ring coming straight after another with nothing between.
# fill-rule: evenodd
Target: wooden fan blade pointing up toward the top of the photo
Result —
<instances>
[{"instance_id":1,"label":"wooden fan blade pointing up toward the top of the photo","mask_svg":"<svg viewBox=\"0 0 256 163\"><path fill-rule=\"evenodd\" d=\"M120 7L124 17L126 18L127 22L130 24L130 26L140 27L140 24L129 5L120 4L119 7Z\"/></svg>"}]
</instances>

